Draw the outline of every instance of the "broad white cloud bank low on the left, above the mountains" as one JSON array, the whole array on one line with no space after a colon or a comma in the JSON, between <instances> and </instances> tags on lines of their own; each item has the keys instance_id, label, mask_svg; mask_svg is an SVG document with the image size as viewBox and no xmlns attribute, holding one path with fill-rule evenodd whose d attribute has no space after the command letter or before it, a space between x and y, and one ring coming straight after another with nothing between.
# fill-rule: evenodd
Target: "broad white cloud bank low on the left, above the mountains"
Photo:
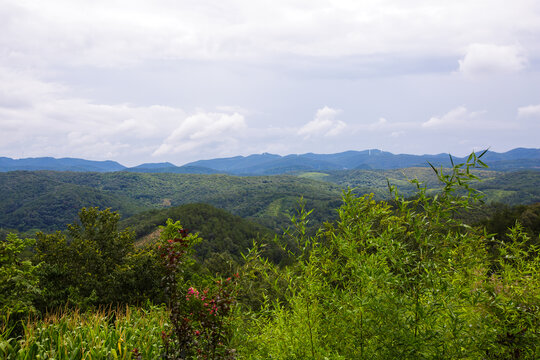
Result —
<instances>
[{"instance_id":1,"label":"broad white cloud bank low on the left, above the mountains","mask_svg":"<svg viewBox=\"0 0 540 360\"><path fill-rule=\"evenodd\" d=\"M17 84L24 86L17 89ZM170 106L96 104L70 97L69 89L58 84L0 68L3 156L114 158L139 163L151 160L152 153L183 152L180 161L193 160L203 146L211 151L230 146L245 127L244 116L237 112L199 110L189 115Z\"/></svg>"}]
</instances>

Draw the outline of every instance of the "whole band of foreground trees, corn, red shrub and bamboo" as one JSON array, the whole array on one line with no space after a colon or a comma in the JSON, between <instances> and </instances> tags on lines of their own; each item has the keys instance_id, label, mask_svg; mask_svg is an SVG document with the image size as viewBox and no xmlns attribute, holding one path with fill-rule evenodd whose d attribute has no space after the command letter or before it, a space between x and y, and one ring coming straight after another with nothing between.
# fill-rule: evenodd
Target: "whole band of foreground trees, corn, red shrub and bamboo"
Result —
<instances>
[{"instance_id":1,"label":"whole band of foreground trees, corn, red shrub and bamboo","mask_svg":"<svg viewBox=\"0 0 540 360\"><path fill-rule=\"evenodd\" d=\"M504 230L460 220L482 195L472 171L483 165L480 158L434 169L437 193L417 180L414 197L390 186L389 202L346 191L338 219L314 235L309 205L300 203L276 239L288 261L269 261L255 244L228 269L237 274L230 279L194 261L198 236L172 220L144 250L119 230L117 214L97 209L83 210L67 234L38 235L33 254L32 241L10 235L2 243L11 254L2 257L3 279L16 282L23 272L39 282L28 277L35 285L23 286L20 297L1 288L11 305L2 309L0 351L6 358L82 358L89 351L114 357L113 350L123 358L169 359L540 358L536 208L514 214L518 221ZM152 287L164 294L140 287L148 276L163 278ZM71 310L47 317L45 299L56 311L66 303ZM144 301L162 305L114 315L95 310ZM25 313L33 315L21 321ZM119 326L128 313L144 320ZM99 320L91 325L78 320L81 314ZM146 340L119 335L137 331ZM157 348L144 342L154 346L157 337Z\"/></svg>"}]
</instances>

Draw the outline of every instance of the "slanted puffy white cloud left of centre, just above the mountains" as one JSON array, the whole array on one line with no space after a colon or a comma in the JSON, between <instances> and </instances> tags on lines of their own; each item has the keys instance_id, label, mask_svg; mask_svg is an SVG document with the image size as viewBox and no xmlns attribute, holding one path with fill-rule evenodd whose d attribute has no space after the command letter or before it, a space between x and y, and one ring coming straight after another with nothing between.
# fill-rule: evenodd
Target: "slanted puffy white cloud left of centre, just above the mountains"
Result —
<instances>
[{"instance_id":1,"label":"slanted puffy white cloud left of centre, just above the mountains","mask_svg":"<svg viewBox=\"0 0 540 360\"><path fill-rule=\"evenodd\" d=\"M236 143L238 131L244 130L244 116L233 113L198 112L187 117L154 151L154 156ZM208 149L207 149L208 151Z\"/></svg>"}]
</instances>

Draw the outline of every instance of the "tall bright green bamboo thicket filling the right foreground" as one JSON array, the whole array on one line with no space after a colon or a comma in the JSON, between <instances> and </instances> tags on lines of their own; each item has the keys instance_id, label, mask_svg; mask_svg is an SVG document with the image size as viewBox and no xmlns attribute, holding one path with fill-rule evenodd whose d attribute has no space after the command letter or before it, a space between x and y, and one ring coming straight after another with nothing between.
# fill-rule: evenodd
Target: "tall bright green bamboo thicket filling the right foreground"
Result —
<instances>
[{"instance_id":1,"label":"tall bright green bamboo thicket filling the right foreground","mask_svg":"<svg viewBox=\"0 0 540 360\"><path fill-rule=\"evenodd\" d=\"M244 308L239 353L272 359L418 359L540 356L538 248L525 250L519 227L500 248L492 271L484 232L454 217L478 193L471 155L449 174L437 170L438 196L426 187L395 208L371 196L344 194L339 220L316 237L303 236L307 213L297 217L302 249L281 271L283 297L265 294L260 311ZM299 236L299 235L300 236ZM303 245L302 245L303 244ZM246 266L253 267L251 262ZM274 267L258 262L257 281ZM261 274L262 273L262 274ZM269 275L267 275L269 274Z\"/></svg>"}]
</instances>

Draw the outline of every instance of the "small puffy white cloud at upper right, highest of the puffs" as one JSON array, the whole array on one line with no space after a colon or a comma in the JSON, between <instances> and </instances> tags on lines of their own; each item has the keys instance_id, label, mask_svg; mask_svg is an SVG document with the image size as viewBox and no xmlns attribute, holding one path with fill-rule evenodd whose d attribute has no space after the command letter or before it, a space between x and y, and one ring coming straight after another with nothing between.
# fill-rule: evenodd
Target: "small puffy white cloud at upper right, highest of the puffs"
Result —
<instances>
[{"instance_id":1,"label":"small puffy white cloud at upper right, highest of the puffs","mask_svg":"<svg viewBox=\"0 0 540 360\"><path fill-rule=\"evenodd\" d=\"M459 60L459 71L465 75L513 73L527 66L523 50L517 46L473 44Z\"/></svg>"}]
</instances>

